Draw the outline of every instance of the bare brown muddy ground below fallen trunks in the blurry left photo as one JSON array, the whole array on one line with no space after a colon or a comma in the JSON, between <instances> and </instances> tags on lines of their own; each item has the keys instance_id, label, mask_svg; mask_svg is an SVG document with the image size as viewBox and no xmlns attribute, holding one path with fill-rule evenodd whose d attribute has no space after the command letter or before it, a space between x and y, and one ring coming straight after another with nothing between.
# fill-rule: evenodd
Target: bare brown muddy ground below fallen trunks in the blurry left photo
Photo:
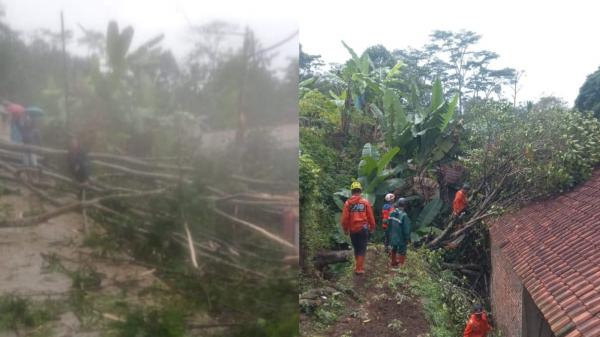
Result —
<instances>
[{"instance_id":1,"label":"bare brown muddy ground below fallen trunks in the blurry left photo","mask_svg":"<svg viewBox=\"0 0 600 337\"><path fill-rule=\"evenodd\" d=\"M42 208L50 210L32 195L0 196L0 216L3 217L26 217ZM76 213L36 226L0 228L0 296L14 295L31 301L67 299L73 289L73 279L49 268L48 256L57 257L69 270L93 266L103 276L99 290L102 294L123 293L122 284L141 289L157 281L151 271L138 265L95 258L93 249L85 247L83 241L82 217ZM51 324L51 336L100 336L93 328L83 329L77 315L69 310ZM16 334L0 331L0 337L9 336Z\"/></svg>"}]
</instances>

